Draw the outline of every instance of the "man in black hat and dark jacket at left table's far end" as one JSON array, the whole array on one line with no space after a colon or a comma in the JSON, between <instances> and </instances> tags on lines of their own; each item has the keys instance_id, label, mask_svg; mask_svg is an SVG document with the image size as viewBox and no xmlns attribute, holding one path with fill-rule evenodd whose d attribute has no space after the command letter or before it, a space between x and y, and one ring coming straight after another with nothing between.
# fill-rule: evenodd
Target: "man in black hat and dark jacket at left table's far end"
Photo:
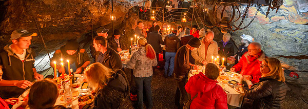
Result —
<instances>
[{"instance_id":1,"label":"man in black hat and dark jacket at left table's far end","mask_svg":"<svg viewBox=\"0 0 308 109\"><path fill-rule=\"evenodd\" d=\"M123 48L121 32L118 29L114 29L112 37L108 38L108 44L114 51L120 52Z\"/></svg>"}]
</instances>

